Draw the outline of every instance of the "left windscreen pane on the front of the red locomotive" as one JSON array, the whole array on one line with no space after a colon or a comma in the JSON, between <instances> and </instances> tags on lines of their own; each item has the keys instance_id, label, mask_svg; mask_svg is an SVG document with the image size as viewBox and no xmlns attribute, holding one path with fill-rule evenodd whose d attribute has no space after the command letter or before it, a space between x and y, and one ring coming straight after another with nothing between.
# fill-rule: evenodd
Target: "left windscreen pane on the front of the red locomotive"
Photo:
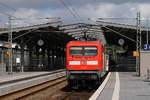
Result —
<instances>
[{"instance_id":1,"label":"left windscreen pane on the front of the red locomotive","mask_svg":"<svg viewBox=\"0 0 150 100\"><path fill-rule=\"evenodd\" d=\"M83 55L83 47L71 47L70 55L72 56L82 56Z\"/></svg>"}]
</instances>

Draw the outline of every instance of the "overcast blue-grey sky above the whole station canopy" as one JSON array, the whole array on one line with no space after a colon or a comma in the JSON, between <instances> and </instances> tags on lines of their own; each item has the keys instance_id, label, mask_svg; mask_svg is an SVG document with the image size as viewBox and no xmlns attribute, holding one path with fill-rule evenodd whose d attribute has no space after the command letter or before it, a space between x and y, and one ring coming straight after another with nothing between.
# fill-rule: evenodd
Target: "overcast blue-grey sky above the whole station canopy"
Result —
<instances>
[{"instance_id":1,"label":"overcast blue-grey sky above the whole station canopy","mask_svg":"<svg viewBox=\"0 0 150 100\"><path fill-rule=\"evenodd\" d=\"M63 0L67 7L76 12L85 22L88 18L100 17L135 18L137 11L143 18L150 17L149 0ZM5 5L6 4L6 5ZM7 23L7 13L18 18L61 17L64 23L77 22L61 0L0 0L0 23ZM42 23L47 20L30 19L30 23ZM28 22L28 23L29 23ZM127 22L127 21L125 21ZM25 24L17 21L17 25ZM26 23L27 24L27 23Z\"/></svg>"}]
</instances>

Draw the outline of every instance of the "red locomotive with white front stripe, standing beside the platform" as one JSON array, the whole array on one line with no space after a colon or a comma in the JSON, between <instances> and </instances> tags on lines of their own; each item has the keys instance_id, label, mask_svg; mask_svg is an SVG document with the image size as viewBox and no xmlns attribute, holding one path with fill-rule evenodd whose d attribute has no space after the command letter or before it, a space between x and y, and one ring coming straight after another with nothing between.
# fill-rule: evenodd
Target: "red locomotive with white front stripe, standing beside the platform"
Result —
<instances>
[{"instance_id":1,"label":"red locomotive with white front stripe, standing beside the platform","mask_svg":"<svg viewBox=\"0 0 150 100\"><path fill-rule=\"evenodd\" d=\"M99 85L108 71L108 55L99 41L71 41L66 46L69 86Z\"/></svg>"}]
</instances>

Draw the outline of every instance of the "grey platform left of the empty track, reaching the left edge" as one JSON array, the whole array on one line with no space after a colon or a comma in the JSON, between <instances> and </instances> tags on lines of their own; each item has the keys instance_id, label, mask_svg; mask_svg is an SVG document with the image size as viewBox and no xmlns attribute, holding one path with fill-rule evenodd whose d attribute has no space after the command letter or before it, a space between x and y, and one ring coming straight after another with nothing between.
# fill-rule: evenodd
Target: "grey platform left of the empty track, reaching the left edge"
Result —
<instances>
[{"instance_id":1,"label":"grey platform left of the empty track, reaching the left edge","mask_svg":"<svg viewBox=\"0 0 150 100\"><path fill-rule=\"evenodd\" d=\"M49 72L17 72L0 74L0 97L65 76L64 69Z\"/></svg>"}]
</instances>

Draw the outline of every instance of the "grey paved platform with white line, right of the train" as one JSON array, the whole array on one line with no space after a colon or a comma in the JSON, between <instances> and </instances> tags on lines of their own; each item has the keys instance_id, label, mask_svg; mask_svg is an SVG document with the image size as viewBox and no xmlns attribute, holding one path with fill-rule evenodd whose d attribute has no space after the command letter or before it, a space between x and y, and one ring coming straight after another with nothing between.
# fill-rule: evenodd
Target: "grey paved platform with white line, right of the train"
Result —
<instances>
[{"instance_id":1,"label":"grey paved platform with white line, right of the train","mask_svg":"<svg viewBox=\"0 0 150 100\"><path fill-rule=\"evenodd\" d=\"M96 92L95 100L150 100L150 81L134 72L111 72L104 88Z\"/></svg>"}]
</instances>

